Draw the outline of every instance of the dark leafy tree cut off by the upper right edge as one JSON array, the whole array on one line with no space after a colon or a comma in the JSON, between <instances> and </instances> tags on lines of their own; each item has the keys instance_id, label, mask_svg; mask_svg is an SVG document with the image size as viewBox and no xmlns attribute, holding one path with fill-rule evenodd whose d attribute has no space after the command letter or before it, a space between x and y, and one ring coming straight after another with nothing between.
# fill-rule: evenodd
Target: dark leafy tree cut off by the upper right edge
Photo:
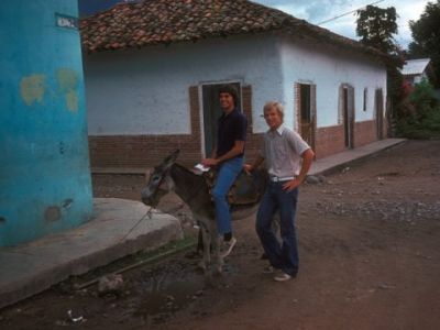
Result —
<instances>
[{"instance_id":1,"label":"dark leafy tree cut off by the upper right edge","mask_svg":"<svg viewBox=\"0 0 440 330\"><path fill-rule=\"evenodd\" d=\"M418 21L409 21L413 40L409 44L410 58L429 57L433 66L435 87L440 87L440 0L428 2Z\"/></svg>"}]
</instances>

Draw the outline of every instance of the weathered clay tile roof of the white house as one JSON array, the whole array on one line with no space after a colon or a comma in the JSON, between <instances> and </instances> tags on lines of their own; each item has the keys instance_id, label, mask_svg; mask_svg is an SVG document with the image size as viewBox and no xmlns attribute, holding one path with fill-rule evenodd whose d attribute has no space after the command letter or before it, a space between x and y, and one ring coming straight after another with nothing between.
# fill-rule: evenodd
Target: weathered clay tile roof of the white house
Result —
<instances>
[{"instance_id":1,"label":"weathered clay tile roof of the white house","mask_svg":"<svg viewBox=\"0 0 440 330\"><path fill-rule=\"evenodd\" d=\"M80 21L82 48L89 53L264 31L309 35L383 55L359 42L248 0L123 2Z\"/></svg>"}]
</instances>

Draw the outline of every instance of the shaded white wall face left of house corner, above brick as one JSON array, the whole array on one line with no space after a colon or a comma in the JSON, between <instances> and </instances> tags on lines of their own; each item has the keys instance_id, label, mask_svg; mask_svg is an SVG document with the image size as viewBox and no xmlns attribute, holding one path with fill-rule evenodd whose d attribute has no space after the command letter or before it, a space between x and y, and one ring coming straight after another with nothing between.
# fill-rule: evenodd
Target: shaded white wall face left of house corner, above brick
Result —
<instances>
[{"instance_id":1,"label":"shaded white wall face left of house corner, above brick","mask_svg":"<svg viewBox=\"0 0 440 330\"><path fill-rule=\"evenodd\" d=\"M275 43L238 36L86 55L89 134L189 134L188 87L230 80L252 85L253 121L264 129L264 102L283 94Z\"/></svg>"}]
</instances>

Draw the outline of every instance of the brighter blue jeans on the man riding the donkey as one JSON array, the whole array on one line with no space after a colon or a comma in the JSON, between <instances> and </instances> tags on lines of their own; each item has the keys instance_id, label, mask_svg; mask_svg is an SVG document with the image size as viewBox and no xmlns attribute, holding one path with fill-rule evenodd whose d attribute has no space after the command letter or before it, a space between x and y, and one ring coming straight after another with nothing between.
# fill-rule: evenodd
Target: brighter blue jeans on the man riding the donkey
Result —
<instances>
[{"instance_id":1,"label":"brighter blue jeans on the man riding the donkey","mask_svg":"<svg viewBox=\"0 0 440 330\"><path fill-rule=\"evenodd\" d=\"M220 165L216 186L211 193L216 205L217 230L219 234L232 232L231 213L229 212L227 195L242 168L242 157L228 160Z\"/></svg>"}]
</instances>

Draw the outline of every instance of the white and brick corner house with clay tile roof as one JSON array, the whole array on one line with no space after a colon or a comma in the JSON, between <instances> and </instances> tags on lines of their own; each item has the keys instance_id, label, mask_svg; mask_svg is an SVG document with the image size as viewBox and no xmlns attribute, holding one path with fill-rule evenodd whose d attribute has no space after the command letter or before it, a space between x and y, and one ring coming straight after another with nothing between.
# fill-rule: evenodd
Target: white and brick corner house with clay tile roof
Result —
<instances>
[{"instance_id":1,"label":"white and brick corner house with clay tile roof","mask_svg":"<svg viewBox=\"0 0 440 330\"><path fill-rule=\"evenodd\" d=\"M81 20L91 165L209 155L220 84L241 91L252 160L263 106L324 157L385 136L386 55L252 1L148 0Z\"/></svg>"}]
</instances>

